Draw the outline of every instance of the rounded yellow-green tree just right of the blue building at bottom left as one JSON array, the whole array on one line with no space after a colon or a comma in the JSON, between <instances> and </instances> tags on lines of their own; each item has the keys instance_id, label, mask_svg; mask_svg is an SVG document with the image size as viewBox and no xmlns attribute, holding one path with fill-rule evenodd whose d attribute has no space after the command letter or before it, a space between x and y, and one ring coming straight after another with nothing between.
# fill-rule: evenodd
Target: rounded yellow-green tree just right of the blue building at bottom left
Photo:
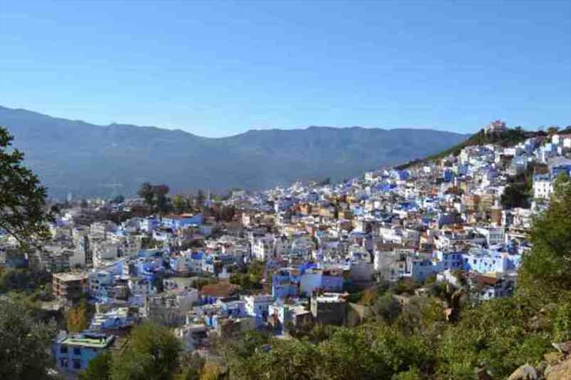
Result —
<instances>
[{"instance_id":1,"label":"rounded yellow-green tree just right of the blue building at bottom left","mask_svg":"<svg viewBox=\"0 0 571 380\"><path fill-rule=\"evenodd\" d=\"M112 380L168 380L178 369L181 343L172 332L153 322L131 332L128 347L113 357Z\"/></svg>"}]
</instances>

